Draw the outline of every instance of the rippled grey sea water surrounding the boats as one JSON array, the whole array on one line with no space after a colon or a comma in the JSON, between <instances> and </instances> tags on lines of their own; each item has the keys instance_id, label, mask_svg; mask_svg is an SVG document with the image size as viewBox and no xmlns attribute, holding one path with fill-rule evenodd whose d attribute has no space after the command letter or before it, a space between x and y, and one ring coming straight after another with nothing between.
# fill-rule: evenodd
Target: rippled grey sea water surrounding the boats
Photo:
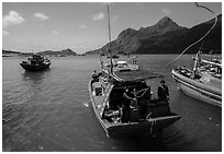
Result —
<instances>
[{"instance_id":1,"label":"rippled grey sea water surrounding the boats","mask_svg":"<svg viewBox=\"0 0 224 154\"><path fill-rule=\"evenodd\" d=\"M2 58L2 150L13 152L222 151L222 109L178 90L166 64L172 56L139 56L141 68L165 73L171 110L182 118L156 138L109 139L97 121L88 95L99 57L52 58L49 70L25 72L24 58ZM190 63L183 56L172 66ZM159 80L154 80L153 90Z\"/></svg>"}]
</instances>

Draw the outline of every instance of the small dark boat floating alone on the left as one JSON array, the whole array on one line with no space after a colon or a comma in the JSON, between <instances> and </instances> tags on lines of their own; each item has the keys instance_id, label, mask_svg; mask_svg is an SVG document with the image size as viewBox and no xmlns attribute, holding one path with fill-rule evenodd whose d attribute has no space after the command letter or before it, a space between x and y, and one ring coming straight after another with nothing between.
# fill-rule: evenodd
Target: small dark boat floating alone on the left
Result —
<instances>
[{"instance_id":1,"label":"small dark boat floating alone on the left","mask_svg":"<svg viewBox=\"0 0 224 154\"><path fill-rule=\"evenodd\" d=\"M43 71L49 68L51 60L43 56L32 55L27 60L22 61L20 66L25 71Z\"/></svg>"}]
</instances>

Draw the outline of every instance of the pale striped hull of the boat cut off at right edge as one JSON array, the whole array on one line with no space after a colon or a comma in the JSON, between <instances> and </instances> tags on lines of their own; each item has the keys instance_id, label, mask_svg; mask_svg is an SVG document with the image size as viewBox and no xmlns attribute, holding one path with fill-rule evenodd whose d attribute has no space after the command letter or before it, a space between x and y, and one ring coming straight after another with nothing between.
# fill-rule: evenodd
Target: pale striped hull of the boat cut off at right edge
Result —
<instances>
[{"instance_id":1,"label":"pale striped hull of the boat cut off at right edge","mask_svg":"<svg viewBox=\"0 0 224 154\"><path fill-rule=\"evenodd\" d=\"M188 96L201 102L222 107L222 91L205 83L192 80L172 70L172 78L179 84L180 90Z\"/></svg>"}]
</instances>

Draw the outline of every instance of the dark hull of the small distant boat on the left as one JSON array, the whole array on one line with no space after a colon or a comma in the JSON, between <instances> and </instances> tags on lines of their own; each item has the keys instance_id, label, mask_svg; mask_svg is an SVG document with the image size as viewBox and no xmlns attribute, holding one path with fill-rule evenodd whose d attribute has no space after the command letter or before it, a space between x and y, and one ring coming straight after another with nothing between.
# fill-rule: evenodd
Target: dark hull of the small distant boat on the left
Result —
<instances>
[{"instance_id":1,"label":"dark hull of the small distant boat on the left","mask_svg":"<svg viewBox=\"0 0 224 154\"><path fill-rule=\"evenodd\" d=\"M51 63L43 63L43 64L27 64L27 63L20 63L20 66L25 70L25 71L43 71L46 69L49 69Z\"/></svg>"}]
</instances>

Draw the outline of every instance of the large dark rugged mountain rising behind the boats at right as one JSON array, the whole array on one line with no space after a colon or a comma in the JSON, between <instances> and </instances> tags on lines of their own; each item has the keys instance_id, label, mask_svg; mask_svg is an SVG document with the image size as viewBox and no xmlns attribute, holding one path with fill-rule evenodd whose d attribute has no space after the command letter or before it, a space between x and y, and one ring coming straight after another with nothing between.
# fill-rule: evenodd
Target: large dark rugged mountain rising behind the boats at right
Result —
<instances>
[{"instance_id":1,"label":"large dark rugged mountain rising behind the boats at right","mask_svg":"<svg viewBox=\"0 0 224 154\"><path fill-rule=\"evenodd\" d=\"M221 51L222 45L222 15L214 29L203 40L203 48ZM153 26L139 29L126 28L111 43L114 54L180 54L189 45L201 38L213 25L214 19L191 28L182 27L168 16L163 17ZM195 52L202 43L188 50ZM97 50L86 54L107 54L109 44Z\"/></svg>"}]
</instances>

